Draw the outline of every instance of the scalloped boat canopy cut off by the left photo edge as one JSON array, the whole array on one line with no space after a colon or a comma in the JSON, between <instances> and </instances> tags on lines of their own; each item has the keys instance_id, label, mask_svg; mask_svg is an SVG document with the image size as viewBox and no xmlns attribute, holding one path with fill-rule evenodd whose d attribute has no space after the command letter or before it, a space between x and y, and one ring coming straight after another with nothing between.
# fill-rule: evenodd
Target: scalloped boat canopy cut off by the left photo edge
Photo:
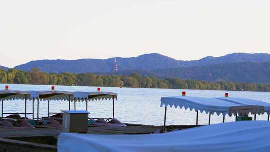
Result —
<instances>
[{"instance_id":1,"label":"scalloped boat canopy cut off by the left photo edge","mask_svg":"<svg viewBox=\"0 0 270 152\"><path fill-rule=\"evenodd\" d=\"M17 91L17 90L0 90L0 100L22 100L30 98L28 91Z\"/></svg>"}]
</instances>

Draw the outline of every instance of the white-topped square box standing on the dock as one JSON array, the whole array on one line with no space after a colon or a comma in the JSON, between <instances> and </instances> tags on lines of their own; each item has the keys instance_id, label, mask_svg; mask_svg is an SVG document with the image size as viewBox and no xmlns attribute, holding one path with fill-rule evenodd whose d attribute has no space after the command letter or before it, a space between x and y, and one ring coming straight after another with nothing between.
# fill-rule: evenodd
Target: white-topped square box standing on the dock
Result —
<instances>
[{"instance_id":1,"label":"white-topped square box standing on the dock","mask_svg":"<svg viewBox=\"0 0 270 152\"><path fill-rule=\"evenodd\" d=\"M88 132L88 111L62 111L63 112L63 132Z\"/></svg>"}]
</instances>

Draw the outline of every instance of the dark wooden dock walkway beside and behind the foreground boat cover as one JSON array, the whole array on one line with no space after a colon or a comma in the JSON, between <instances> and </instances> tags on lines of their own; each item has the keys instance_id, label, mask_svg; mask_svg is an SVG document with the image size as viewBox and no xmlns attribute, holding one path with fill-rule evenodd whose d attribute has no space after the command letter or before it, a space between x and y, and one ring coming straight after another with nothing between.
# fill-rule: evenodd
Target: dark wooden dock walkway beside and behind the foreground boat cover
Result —
<instances>
[{"instance_id":1,"label":"dark wooden dock walkway beside and behind the foreground boat cover","mask_svg":"<svg viewBox=\"0 0 270 152\"><path fill-rule=\"evenodd\" d=\"M162 126L126 124L127 127L90 126L89 134L150 134ZM167 126L170 129L185 129L194 126ZM57 128L0 128L0 151L57 151L57 137L62 132Z\"/></svg>"}]
</instances>

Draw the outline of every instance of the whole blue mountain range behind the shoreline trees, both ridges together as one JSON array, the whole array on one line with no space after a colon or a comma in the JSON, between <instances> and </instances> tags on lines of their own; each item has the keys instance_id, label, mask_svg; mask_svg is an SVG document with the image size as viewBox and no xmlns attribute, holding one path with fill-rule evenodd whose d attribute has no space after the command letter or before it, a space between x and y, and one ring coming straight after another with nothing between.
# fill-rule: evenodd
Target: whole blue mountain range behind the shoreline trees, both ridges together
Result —
<instances>
[{"instance_id":1,"label":"whole blue mountain range behind the shoreline trees, both ridges together","mask_svg":"<svg viewBox=\"0 0 270 152\"><path fill-rule=\"evenodd\" d=\"M159 78L182 78L205 81L233 81L270 84L270 54L233 53L221 57L205 57L200 60L182 61L157 53L138 57L116 57L118 72L111 72L114 58L79 60L37 60L14 67L30 71L40 68L48 73L86 73L130 75ZM7 67L0 66L7 70Z\"/></svg>"}]
</instances>

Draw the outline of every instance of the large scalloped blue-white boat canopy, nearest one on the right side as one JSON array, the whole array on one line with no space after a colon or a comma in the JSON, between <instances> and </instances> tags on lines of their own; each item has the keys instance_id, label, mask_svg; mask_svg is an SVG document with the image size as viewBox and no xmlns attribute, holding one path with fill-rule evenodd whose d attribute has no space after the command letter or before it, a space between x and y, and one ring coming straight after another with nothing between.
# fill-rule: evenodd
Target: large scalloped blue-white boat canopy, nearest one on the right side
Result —
<instances>
[{"instance_id":1,"label":"large scalloped blue-white boat canopy, nearest one on the right side","mask_svg":"<svg viewBox=\"0 0 270 152\"><path fill-rule=\"evenodd\" d=\"M256 105L242 105L237 103L231 103L216 98L205 98L205 97L190 97L190 96L172 96L172 97L162 97L161 107L165 105L177 107L189 108L190 110L200 111L201 113L205 111L206 113L211 112L211 114L216 113L219 115L222 113L223 116L228 114L261 114L264 113L263 106Z\"/></svg>"}]
</instances>

